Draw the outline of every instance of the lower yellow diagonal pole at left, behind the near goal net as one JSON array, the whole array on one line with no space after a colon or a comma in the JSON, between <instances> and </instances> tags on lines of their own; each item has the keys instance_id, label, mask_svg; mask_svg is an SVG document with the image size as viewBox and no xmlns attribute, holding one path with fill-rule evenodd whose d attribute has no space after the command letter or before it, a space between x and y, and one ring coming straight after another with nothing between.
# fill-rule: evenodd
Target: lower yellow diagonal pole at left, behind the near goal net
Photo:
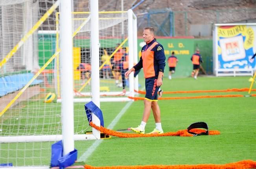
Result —
<instances>
[{"instance_id":1,"label":"lower yellow diagonal pole at left, behind the near goal net","mask_svg":"<svg viewBox=\"0 0 256 169\"><path fill-rule=\"evenodd\" d=\"M52 60L59 54L59 51L55 52L53 56L44 64L43 67L32 77L32 79L18 92L18 94L11 100L7 106L4 108L4 110L1 111L0 117L10 108L10 106L22 95L22 93L28 88L28 86L41 74L41 72L52 62Z\"/></svg>"}]
</instances>

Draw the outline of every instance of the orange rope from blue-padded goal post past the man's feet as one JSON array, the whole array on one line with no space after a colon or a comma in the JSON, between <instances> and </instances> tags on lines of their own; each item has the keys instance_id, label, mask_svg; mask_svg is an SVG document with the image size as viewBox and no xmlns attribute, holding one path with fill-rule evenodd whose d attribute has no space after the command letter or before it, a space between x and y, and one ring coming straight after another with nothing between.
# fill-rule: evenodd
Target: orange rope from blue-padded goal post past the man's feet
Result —
<instances>
[{"instance_id":1,"label":"orange rope from blue-padded goal post past the man's feet","mask_svg":"<svg viewBox=\"0 0 256 169\"><path fill-rule=\"evenodd\" d=\"M112 135L116 137L121 137L121 138L135 138L135 137L160 137L160 136L182 136L182 137L192 137L193 135L188 133L187 129L179 130L177 132L168 132L168 133L162 133L162 134L134 134L134 133L122 133L118 131L114 131L111 129L107 129L103 126L96 126L92 122L90 122L90 126L93 128L107 134L107 135ZM194 133L202 133L205 132L204 129L191 129L190 131ZM220 132L217 130L211 130L208 131L209 135L219 135Z\"/></svg>"}]
</instances>

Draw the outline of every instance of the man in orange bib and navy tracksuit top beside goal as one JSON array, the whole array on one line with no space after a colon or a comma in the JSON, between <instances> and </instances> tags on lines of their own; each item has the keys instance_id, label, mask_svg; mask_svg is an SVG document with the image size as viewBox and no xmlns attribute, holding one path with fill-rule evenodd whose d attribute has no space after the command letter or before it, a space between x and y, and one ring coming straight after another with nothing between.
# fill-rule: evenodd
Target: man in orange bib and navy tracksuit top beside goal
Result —
<instances>
[{"instance_id":1,"label":"man in orange bib and navy tracksuit top beside goal","mask_svg":"<svg viewBox=\"0 0 256 169\"><path fill-rule=\"evenodd\" d=\"M161 134L164 133L164 131L161 126L160 108L157 103L157 92L163 84L162 77L164 75L165 67L164 48L154 40L153 27L144 28L143 39L146 42L146 45L142 47L142 57L140 57L140 61L133 68L125 72L125 76L128 77L131 72L143 68L145 76L146 95L144 99L145 107L142 122L137 128L131 128L131 130L136 133L144 134L145 126L152 109L156 128L150 134Z\"/></svg>"}]
</instances>

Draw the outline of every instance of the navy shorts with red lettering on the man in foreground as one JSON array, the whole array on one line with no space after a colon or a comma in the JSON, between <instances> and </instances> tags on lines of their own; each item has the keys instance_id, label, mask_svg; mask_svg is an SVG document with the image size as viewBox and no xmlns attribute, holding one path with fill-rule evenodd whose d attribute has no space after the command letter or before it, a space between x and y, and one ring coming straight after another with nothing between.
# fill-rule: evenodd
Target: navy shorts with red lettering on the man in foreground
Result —
<instances>
[{"instance_id":1,"label":"navy shorts with red lettering on the man in foreground","mask_svg":"<svg viewBox=\"0 0 256 169\"><path fill-rule=\"evenodd\" d=\"M145 99L148 101L157 101L157 92L160 88L160 86L157 86L157 77L150 77L145 79L145 88Z\"/></svg>"}]
</instances>

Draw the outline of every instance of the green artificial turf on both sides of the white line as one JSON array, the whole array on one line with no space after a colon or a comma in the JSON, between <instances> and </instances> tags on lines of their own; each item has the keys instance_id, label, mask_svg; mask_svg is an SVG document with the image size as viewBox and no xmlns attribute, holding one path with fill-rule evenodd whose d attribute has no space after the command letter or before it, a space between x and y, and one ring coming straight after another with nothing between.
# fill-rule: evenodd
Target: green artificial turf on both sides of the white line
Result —
<instances>
[{"instance_id":1,"label":"green artificial turf on both sides of the white line","mask_svg":"<svg viewBox=\"0 0 256 169\"><path fill-rule=\"evenodd\" d=\"M201 77L163 79L162 90L192 91L192 90L225 90L232 88L249 88L249 77ZM143 90L144 79L139 83ZM254 84L253 88L256 84ZM255 94L252 92L251 94ZM186 97L201 95L248 95L247 92L217 92L217 93L177 93L164 94L163 97ZM139 95L144 97L144 95ZM219 130L220 135L198 137L150 137L150 138L118 138L112 137L101 141L98 147L81 164L93 166L117 165L173 165L173 164L226 164L240 160L256 160L256 97L227 97L206 99L176 99L160 100L162 128L164 132L186 129L194 122L203 121L208 124L209 130ZM128 102L102 102L105 127L109 126ZM10 109L5 113L3 123L10 121L13 133L20 134L18 129L26 128L26 132L56 134L54 128L60 128L57 122L60 116L54 117L51 112L60 112L60 104L43 104L42 100L28 102L20 109ZM16 119L18 112L24 115L31 111L29 117ZM91 131L85 128L86 120L83 104L74 104L75 132ZM143 101L135 101L124 112L120 120L113 126L114 130L137 127L142 119L144 110ZM17 112L16 112L17 111ZM50 114L49 114L50 113ZM44 118L49 117L49 118ZM52 118L50 118L52 117ZM16 121L15 121L16 120ZM57 122L55 122L56 120ZM26 126L26 123L37 124ZM49 123L45 126L44 123ZM24 126L22 126L24 125ZM155 128L153 114L147 122L145 132ZM2 129L3 124L2 124ZM131 132L128 132L131 133ZM3 133L2 133L3 134ZM7 134L7 133L6 133ZM76 141L78 159L88 151L94 142L99 140ZM13 143L0 144L0 163L12 162L14 165L49 165L53 142L46 143ZM35 151L30 151L31 147ZM18 151L17 151L18 149ZM24 151L26 150L26 151ZM18 156L18 158L17 158Z\"/></svg>"}]
</instances>

